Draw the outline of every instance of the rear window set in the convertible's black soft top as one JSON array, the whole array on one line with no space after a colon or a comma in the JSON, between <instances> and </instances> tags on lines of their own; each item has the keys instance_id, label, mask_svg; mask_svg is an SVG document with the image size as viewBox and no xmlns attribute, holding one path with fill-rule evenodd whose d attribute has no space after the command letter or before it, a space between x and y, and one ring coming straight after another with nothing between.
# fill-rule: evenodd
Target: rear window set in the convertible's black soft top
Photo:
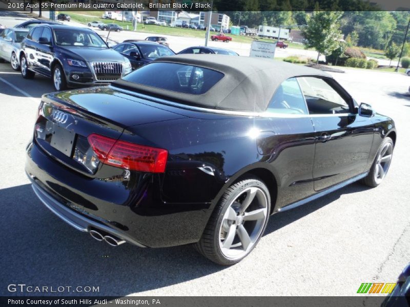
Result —
<instances>
[{"instance_id":1,"label":"rear window set in the convertible's black soft top","mask_svg":"<svg viewBox=\"0 0 410 307\"><path fill-rule=\"evenodd\" d=\"M208 92L222 77L222 73L203 67L156 62L145 65L122 79L162 90L201 95Z\"/></svg>"}]
</instances>

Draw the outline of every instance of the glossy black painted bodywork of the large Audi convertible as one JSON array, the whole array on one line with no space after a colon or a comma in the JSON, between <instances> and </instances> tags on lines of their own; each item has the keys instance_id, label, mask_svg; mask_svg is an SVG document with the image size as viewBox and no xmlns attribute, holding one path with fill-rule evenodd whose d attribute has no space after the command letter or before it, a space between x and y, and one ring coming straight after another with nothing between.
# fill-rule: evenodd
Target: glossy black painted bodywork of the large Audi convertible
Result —
<instances>
[{"instance_id":1,"label":"glossy black painted bodywork of the large Audi convertible","mask_svg":"<svg viewBox=\"0 0 410 307\"><path fill-rule=\"evenodd\" d=\"M34 137L27 148L26 172L40 187L148 247L197 242L224 190L242 176L267 184L275 213L368 171L383 138L396 139L393 120L378 114L203 112L113 86L44 96L43 116L53 121L55 109L70 115L61 126L78 136L97 133L169 151L165 173L102 164L90 173L43 140ZM323 141L323 133L330 138Z\"/></svg>"}]
</instances>

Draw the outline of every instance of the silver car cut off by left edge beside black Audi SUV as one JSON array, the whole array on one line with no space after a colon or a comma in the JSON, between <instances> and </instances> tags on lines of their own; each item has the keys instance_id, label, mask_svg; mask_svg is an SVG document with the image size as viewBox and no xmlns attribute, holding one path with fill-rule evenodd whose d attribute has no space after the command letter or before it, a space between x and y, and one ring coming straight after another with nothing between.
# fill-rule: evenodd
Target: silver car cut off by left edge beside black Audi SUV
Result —
<instances>
[{"instance_id":1,"label":"silver car cut off by left edge beside black Audi SUV","mask_svg":"<svg viewBox=\"0 0 410 307\"><path fill-rule=\"evenodd\" d=\"M0 33L0 62L10 62L15 71L20 69L20 43L28 32L28 29L10 28Z\"/></svg>"}]
</instances>

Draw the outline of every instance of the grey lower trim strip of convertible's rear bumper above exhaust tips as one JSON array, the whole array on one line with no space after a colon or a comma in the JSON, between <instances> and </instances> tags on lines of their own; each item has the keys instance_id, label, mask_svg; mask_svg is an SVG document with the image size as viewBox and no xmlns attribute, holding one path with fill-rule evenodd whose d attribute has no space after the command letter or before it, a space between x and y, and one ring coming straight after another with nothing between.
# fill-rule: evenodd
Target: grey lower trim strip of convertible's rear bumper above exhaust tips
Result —
<instances>
[{"instance_id":1,"label":"grey lower trim strip of convertible's rear bumper above exhaust tips","mask_svg":"<svg viewBox=\"0 0 410 307\"><path fill-rule=\"evenodd\" d=\"M28 174L27 174L28 176ZM32 183L32 188L34 193L37 195L38 199L51 210L55 215L57 215L61 220L74 227L75 229L83 232L90 232L91 229L99 229L105 231L111 235L114 235L120 239L125 240L128 243L139 247L145 247L144 245L136 242L133 238L127 236L124 233L121 233L115 229L107 227L103 224L94 222L89 218L75 213L73 210L68 209L63 204L59 203L56 199L53 198L49 193L47 193L42 187L40 187L33 178L28 176Z\"/></svg>"}]
</instances>

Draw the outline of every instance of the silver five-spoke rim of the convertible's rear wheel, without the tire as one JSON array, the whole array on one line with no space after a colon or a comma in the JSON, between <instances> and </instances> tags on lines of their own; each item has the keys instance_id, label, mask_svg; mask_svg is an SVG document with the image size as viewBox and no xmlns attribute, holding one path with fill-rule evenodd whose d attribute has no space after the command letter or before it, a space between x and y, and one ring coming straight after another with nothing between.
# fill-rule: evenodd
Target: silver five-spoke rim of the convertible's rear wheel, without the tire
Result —
<instances>
[{"instance_id":1,"label":"silver five-spoke rim of the convertible's rear wheel, without the tire","mask_svg":"<svg viewBox=\"0 0 410 307\"><path fill-rule=\"evenodd\" d=\"M253 247L268 216L268 200L257 187L243 190L225 212L219 247L227 258L237 259Z\"/></svg>"}]
</instances>

